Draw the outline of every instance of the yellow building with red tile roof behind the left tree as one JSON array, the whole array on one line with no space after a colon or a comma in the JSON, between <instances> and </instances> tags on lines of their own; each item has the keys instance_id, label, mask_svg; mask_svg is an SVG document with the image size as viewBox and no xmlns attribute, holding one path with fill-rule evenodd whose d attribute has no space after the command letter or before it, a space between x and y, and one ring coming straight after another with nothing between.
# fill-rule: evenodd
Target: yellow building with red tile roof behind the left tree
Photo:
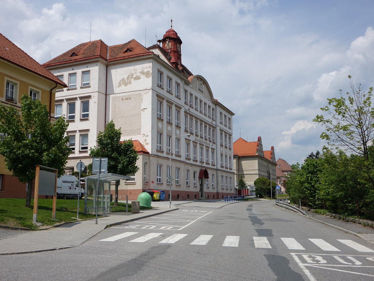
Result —
<instances>
[{"instance_id":1,"label":"yellow building with red tile roof behind the left tree","mask_svg":"<svg viewBox=\"0 0 374 281\"><path fill-rule=\"evenodd\" d=\"M47 105L54 116L55 93L66 87L65 83L22 51L0 33L0 103L21 108L21 96L28 94ZM52 118L52 117L51 117ZM0 141L4 134L0 132ZM26 185L6 169L0 155L0 197L25 198Z\"/></svg>"}]
</instances>

